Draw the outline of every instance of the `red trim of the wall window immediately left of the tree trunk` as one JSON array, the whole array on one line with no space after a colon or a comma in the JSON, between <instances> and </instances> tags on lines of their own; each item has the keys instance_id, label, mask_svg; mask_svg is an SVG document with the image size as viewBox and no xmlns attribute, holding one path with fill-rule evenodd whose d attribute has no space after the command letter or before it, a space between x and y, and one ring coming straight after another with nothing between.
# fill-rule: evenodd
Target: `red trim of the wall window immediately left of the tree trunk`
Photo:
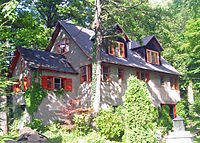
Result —
<instances>
[{"instance_id":1,"label":"red trim of the wall window immediately left of the tree trunk","mask_svg":"<svg viewBox=\"0 0 200 143\"><path fill-rule=\"evenodd\" d=\"M92 64L89 64L89 65L85 65L85 66L82 66L80 67L80 83L83 83L85 81L83 81L83 77L82 77L82 68L86 68L86 81L87 82L91 82L92 81Z\"/></svg>"}]
</instances>

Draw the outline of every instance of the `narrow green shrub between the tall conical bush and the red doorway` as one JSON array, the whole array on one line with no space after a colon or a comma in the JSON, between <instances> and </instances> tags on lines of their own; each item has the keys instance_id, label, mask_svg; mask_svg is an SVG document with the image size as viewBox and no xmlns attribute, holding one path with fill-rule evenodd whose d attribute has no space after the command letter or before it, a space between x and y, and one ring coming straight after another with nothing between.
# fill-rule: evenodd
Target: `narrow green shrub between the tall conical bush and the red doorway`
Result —
<instances>
[{"instance_id":1,"label":"narrow green shrub between the tall conical bush and the red doorway","mask_svg":"<svg viewBox=\"0 0 200 143\"><path fill-rule=\"evenodd\" d=\"M166 135L173 127L168 105L163 105L161 111L159 111L158 126L162 129L162 136Z\"/></svg>"}]
</instances>

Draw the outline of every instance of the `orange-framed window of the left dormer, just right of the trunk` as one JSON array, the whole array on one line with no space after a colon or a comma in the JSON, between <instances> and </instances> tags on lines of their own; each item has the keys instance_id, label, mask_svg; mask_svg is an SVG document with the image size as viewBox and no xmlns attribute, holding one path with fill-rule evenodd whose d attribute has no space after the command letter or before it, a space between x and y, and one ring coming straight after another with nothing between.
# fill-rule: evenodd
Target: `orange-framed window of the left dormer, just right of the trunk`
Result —
<instances>
[{"instance_id":1,"label":"orange-framed window of the left dormer, just right of the trunk","mask_svg":"<svg viewBox=\"0 0 200 143\"><path fill-rule=\"evenodd\" d=\"M125 57L124 43L110 40L108 43L108 53L109 55Z\"/></svg>"}]
</instances>

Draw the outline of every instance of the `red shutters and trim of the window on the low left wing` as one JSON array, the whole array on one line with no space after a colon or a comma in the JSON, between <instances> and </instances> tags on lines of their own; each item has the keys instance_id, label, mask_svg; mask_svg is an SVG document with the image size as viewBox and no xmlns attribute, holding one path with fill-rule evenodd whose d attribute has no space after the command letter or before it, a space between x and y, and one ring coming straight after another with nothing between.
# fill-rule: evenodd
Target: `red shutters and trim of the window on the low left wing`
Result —
<instances>
[{"instance_id":1,"label":"red shutters and trim of the window on the low left wing","mask_svg":"<svg viewBox=\"0 0 200 143\"><path fill-rule=\"evenodd\" d=\"M51 79L51 88L47 87L47 79ZM62 80L65 80L65 91L72 91L72 79L57 77L57 76L41 76L41 84L44 89L53 90L54 89L54 78L60 78L60 87L62 88Z\"/></svg>"}]
</instances>

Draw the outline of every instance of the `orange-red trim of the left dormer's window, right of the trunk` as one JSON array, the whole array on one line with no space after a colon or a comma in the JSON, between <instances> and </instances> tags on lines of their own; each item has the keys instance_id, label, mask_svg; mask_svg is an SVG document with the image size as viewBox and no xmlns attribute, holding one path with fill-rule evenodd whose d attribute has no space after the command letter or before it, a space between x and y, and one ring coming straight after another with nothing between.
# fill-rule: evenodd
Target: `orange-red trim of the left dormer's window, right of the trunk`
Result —
<instances>
[{"instance_id":1,"label":"orange-red trim of the left dormer's window, right of the trunk","mask_svg":"<svg viewBox=\"0 0 200 143\"><path fill-rule=\"evenodd\" d=\"M117 43L118 44L118 47L117 47L118 48L118 54L114 54L113 43ZM122 45L122 47L121 47L121 45ZM120 51L122 51L122 55L120 55ZM119 42L119 41L109 40L108 54L124 58L125 57L124 43L123 42Z\"/></svg>"}]
</instances>

